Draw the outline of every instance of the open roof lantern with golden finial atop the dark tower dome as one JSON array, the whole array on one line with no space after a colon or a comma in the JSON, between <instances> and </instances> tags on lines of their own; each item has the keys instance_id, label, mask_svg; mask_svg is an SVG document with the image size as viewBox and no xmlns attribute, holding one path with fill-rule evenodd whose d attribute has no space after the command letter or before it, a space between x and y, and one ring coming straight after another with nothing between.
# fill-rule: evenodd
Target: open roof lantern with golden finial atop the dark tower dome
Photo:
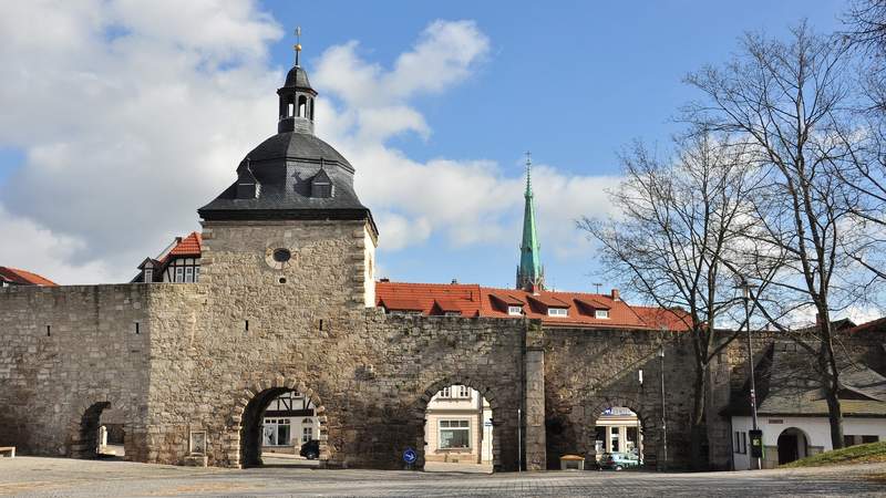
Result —
<instances>
[{"instance_id":1,"label":"open roof lantern with golden finial atop the dark tower dome","mask_svg":"<svg viewBox=\"0 0 886 498\"><path fill-rule=\"evenodd\" d=\"M296 65L286 75L286 83L277 90L280 97L277 133L296 132L313 134L313 105L317 92L311 89L308 73L301 68L301 28L296 29Z\"/></svg>"}]
</instances>

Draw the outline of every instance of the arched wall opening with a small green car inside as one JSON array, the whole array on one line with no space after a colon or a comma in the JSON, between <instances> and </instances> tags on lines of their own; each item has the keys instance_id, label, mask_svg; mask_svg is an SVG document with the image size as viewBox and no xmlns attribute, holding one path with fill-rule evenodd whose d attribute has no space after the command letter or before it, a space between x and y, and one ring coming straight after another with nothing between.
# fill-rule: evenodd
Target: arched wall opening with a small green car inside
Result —
<instances>
[{"instance_id":1,"label":"arched wall opening with a small green car inside","mask_svg":"<svg viewBox=\"0 0 886 498\"><path fill-rule=\"evenodd\" d=\"M594 449L601 470L639 469L643 465L642 419L627 406L609 406L594 422Z\"/></svg>"}]
</instances>

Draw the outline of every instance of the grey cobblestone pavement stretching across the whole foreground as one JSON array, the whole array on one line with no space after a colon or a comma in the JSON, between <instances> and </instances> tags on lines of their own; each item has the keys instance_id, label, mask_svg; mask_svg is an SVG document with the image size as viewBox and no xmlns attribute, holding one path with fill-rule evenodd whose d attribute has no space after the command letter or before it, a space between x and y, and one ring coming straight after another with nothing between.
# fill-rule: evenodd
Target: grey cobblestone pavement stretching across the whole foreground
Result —
<instances>
[{"instance_id":1,"label":"grey cobblestone pavement stretching across the whole foreground","mask_svg":"<svg viewBox=\"0 0 886 498\"><path fill-rule=\"evenodd\" d=\"M0 496L886 496L885 464L708 474L461 474L257 468L195 469L125 461L0 458Z\"/></svg>"}]
</instances>

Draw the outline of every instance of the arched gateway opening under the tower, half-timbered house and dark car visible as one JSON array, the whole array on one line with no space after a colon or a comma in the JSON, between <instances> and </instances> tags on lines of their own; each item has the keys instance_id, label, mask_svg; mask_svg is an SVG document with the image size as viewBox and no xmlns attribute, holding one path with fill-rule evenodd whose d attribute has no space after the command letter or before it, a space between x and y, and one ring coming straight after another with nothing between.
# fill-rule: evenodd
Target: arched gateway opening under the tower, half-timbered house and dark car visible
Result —
<instances>
[{"instance_id":1,"label":"arched gateway opening under the tower, half-timbered house and dark car visible","mask_svg":"<svg viewBox=\"0 0 886 498\"><path fill-rule=\"evenodd\" d=\"M257 394L243 413L240 465L318 467L327 457L320 417L308 393L272 387Z\"/></svg>"}]
</instances>

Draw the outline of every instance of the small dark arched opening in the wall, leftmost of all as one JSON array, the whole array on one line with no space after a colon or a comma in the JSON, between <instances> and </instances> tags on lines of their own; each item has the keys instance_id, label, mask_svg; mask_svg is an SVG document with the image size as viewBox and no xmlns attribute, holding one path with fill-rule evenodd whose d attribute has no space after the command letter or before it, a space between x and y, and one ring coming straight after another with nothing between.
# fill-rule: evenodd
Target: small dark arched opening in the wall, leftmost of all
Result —
<instances>
[{"instance_id":1,"label":"small dark arched opening in the wall, leftmost of all","mask_svg":"<svg viewBox=\"0 0 886 498\"><path fill-rule=\"evenodd\" d=\"M75 458L124 459L123 412L110 402L90 405L80 419L72 446Z\"/></svg>"}]
</instances>

